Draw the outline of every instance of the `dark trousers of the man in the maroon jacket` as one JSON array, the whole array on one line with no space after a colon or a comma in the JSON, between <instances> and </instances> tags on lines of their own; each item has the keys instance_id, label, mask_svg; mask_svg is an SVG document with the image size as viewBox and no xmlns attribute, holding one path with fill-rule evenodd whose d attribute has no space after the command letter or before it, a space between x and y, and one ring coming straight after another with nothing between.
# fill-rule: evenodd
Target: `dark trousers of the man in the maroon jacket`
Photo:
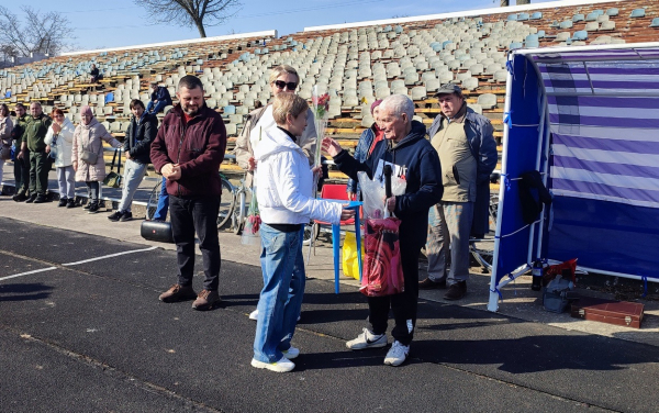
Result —
<instances>
[{"instance_id":1,"label":"dark trousers of the man in the maroon jacket","mask_svg":"<svg viewBox=\"0 0 659 413\"><path fill-rule=\"evenodd\" d=\"M217 237L217 197L169 196L171 234L176 244L180 286L190 286L194 271L194 233L203 260L205 290L217 290L220 283L220 238Z\"/></svg>"}]
</instances>

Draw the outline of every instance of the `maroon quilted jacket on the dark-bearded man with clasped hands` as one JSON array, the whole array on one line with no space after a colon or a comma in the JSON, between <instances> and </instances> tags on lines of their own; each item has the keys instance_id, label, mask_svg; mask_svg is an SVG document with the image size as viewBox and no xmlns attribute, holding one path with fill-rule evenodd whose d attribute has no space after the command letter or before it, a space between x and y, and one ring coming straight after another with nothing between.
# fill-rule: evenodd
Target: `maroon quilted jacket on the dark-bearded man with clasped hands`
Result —
<instances>
[{"instance_id":1,"label":"maroon quilted jacket on the dark-bearded man with clasped hands","mask_svg":"<svg viewBox=\"0 0 659 413\"><path fill-rule=\"evenodd\" d=\"M222 116L205 104L183 125L183 111L177 104L163 120L150 148L157 171L167 164L181 166L181 178L167 180L167 193L175 197L220 196L220 164L226 148Z\"/></svg>"}]
</instances>

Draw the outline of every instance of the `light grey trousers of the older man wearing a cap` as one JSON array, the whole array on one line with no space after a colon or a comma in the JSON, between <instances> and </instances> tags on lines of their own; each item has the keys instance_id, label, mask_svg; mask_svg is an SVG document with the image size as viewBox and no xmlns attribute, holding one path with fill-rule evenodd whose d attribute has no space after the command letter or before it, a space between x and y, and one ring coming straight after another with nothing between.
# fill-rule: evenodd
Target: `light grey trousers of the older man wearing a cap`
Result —
<instances>
[{"instance_id":1,"label":"light grey trousers of the older man wearing a cap","mask_svg":"<svg viewBox=\"0 0 659 413\"><path fill-rule=\"evenodd\" d=\"M469 278L469 233L473 202L442 201L428 217L428 278L448 286Z\"/></svg>"}]
</instances>

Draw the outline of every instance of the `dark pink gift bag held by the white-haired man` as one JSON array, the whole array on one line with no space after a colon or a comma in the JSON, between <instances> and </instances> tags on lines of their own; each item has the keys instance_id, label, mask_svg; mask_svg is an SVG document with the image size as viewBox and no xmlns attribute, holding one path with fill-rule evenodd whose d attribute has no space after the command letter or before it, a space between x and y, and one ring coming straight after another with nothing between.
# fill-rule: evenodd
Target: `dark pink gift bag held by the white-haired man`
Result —
<instances>
[{"instance_id":1,"label":"dark pink gift bag held by the white-haired man","mask_svg":"<svg viewBox=\"0 0 659 413\"><path fill-rule=\"evenodd\" d=\"M399 226L395 217L366 220L366 255L361 291L368 297L392 295L405 290Z\"/></svg>"}]
</instances>

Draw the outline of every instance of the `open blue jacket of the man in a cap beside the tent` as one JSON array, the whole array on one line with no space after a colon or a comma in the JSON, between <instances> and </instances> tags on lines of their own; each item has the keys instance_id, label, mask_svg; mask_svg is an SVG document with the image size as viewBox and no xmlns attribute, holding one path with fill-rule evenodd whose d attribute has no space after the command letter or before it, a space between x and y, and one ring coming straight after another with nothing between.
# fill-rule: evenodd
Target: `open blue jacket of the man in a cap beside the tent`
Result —
<instances>
[{"instance_id":1,"label":"open blue jacket of the man in a cap beside the tent","mask_svg":"<svg viewBox=\"0 0 659 413\"><path fill-rule=\"evenodd\" d=\"M442 126L444 115L435 118L428 130L431 139ZM490 175L496 167L499 154L494 141L494 127L490 120L467 108L465 118L465 133L471 155L477 161L476 167L476 203L473 208L473 222L471 234L481 237L490 230Z\"/></svg>"}]
</instances>

